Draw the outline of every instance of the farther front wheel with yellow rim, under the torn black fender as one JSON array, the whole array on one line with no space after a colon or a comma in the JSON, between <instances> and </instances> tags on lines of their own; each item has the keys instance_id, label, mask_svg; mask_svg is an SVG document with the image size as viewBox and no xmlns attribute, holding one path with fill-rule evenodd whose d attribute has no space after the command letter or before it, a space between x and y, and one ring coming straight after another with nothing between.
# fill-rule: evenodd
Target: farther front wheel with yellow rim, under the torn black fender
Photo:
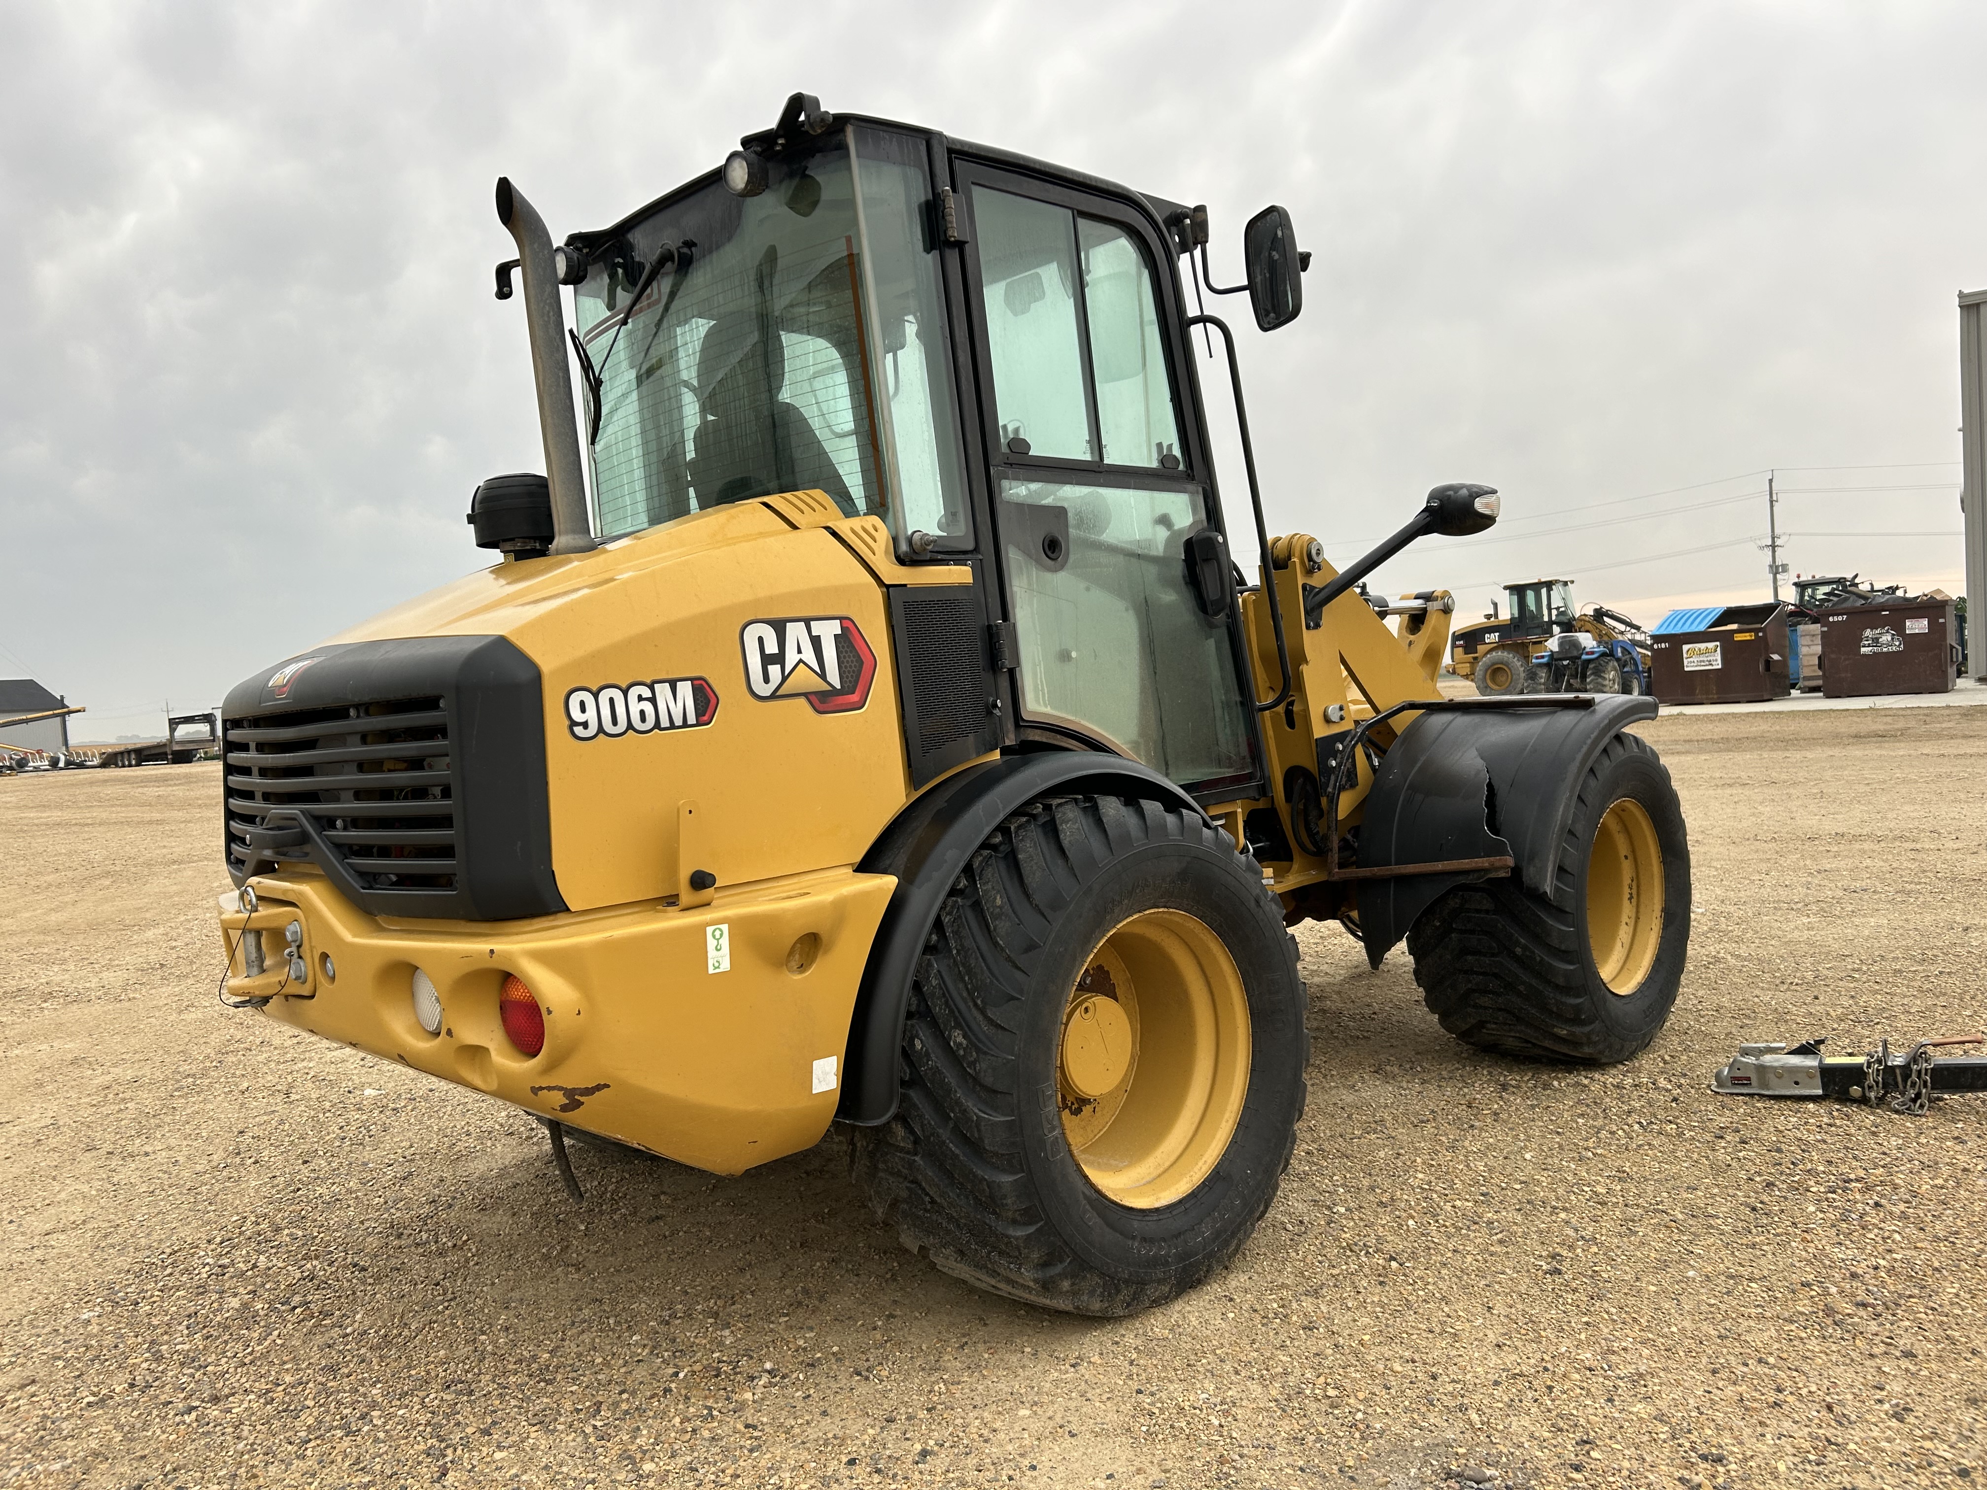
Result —
<instances>
[{"instance_id":1,"label":"farther front wheel with yellow rim, under the torn black fender","mask_svg":"<svg viewBox=\"0 0 1987 1490\"><path fill-rule=\"evenodd\" d=\"M1429 1009L1484 1051L1605 1065L1655 1039L1691 940L1691 848L1669 771L1615 735L1578 785L1552 894L1447 892L1407 934Z\"/></svg>"}]
</instances>

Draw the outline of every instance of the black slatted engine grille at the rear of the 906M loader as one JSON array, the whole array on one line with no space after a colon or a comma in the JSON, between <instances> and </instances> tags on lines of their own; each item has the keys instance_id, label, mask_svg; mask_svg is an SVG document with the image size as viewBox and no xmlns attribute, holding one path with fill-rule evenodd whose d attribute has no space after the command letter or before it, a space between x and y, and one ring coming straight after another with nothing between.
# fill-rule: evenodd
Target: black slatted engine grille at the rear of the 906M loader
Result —
<instances>
[{"instance_id":1,"label":"black slatted engine grille at the rear of the 906M loader","mask_svg":"<svg viewBox=\"0 0 1987 1490\"><path fill-rule=\"evenodd\" d=\"M316 822L362 888L453 892L461 874L455 787L441 697L229 719L229 868L244 874L246 830L290 809Z\"/></svg>"}]
</instances>

